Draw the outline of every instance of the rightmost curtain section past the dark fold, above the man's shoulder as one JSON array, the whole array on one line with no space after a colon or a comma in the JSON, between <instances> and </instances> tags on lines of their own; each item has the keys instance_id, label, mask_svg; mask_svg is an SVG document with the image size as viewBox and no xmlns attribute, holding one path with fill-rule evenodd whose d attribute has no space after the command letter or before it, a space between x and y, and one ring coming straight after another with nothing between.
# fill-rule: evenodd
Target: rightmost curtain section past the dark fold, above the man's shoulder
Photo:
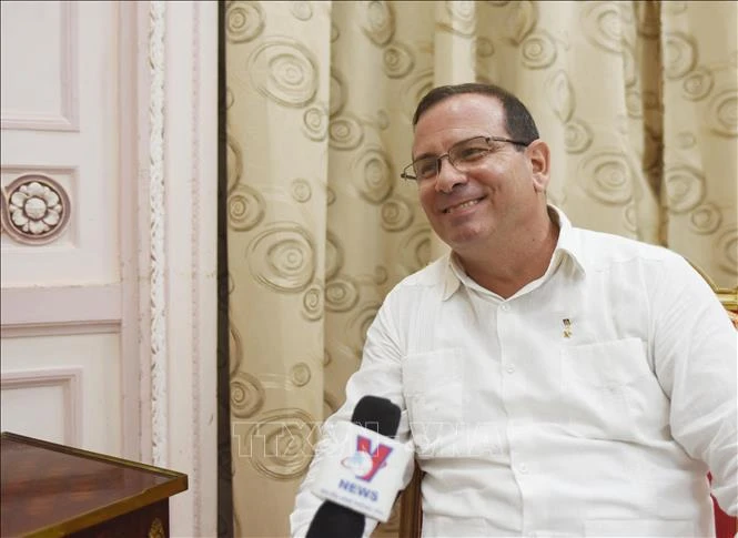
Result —
<instances>
[{"instance_id":1,"label":"rightmost curtain section past the dark fold, above the man's shoulder","mask_svg":"<svg viewBox=\"0 0 738 538\"><path fill-rule=\"evenodd\" d=\"M718 284L738 266L736 2L664 2L666 244Z\"/></svg>"}]
</instances>

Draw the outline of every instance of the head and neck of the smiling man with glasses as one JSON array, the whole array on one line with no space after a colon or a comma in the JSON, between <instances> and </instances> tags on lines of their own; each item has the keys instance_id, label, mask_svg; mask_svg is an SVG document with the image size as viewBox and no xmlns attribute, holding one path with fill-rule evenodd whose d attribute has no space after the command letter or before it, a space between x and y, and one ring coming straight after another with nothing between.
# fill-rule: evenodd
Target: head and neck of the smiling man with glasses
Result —
<instances>
[{"instance_id":1,"label":"head and neck of the smiling man with glasses","mask_svg":"<svg viewBox=\"0 0 738 538\"><path fill-rule=\"evenodd\" d=\"M512 95L503 94L514 118L508 129L499 98L454 91L439 89L418 106L415 159L403 175L418 182L431 225L466 273L508 297L544 274L556 246L558 227L546 211L548 145Z\"/></svg>"}]
</instances>

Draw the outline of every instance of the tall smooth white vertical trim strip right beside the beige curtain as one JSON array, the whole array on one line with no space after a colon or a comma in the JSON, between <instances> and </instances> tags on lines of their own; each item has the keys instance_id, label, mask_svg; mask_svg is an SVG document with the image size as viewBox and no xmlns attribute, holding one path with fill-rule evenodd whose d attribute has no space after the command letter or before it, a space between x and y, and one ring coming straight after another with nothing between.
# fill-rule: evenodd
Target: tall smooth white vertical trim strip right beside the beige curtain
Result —
<instances>
[{"instance_id":1,"label":"tall smooth white vertical trim strip right beside the beige curtain","mask_svg":"<svg viewBox=\"0 0 738 538\"><path fill-rule=\"evenodd\" d=\"M168 3L165 41L169 463L190 477L172 528L216 536L218 2Z\"/></svg>"}]
</instances>

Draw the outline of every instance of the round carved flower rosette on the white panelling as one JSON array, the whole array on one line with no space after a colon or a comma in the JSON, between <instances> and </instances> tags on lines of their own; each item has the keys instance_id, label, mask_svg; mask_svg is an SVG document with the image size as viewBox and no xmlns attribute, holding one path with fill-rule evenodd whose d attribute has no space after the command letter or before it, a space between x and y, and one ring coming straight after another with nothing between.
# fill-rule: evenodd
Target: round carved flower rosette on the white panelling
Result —
<instances>
[{"instance_id":1,"label":"round carved flower rosette on the white panelling","mask_svg":"<svg viewBox=\"0 0 738 538\"><path fill-rule=\"evenodd\" d=\"M51 177L22 175L3 190L2 231L17 242L30 245L50 243L69 224L69 195Z\"/></svg>"}]
</instances>

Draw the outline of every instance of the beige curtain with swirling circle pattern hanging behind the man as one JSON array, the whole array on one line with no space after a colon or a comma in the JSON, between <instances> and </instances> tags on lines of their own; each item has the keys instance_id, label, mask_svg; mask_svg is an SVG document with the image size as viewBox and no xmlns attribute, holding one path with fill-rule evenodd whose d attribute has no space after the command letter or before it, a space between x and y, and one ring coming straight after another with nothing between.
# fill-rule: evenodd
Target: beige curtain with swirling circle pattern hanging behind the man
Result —
<instances>
[{"instance_id":1,"label":"beige curtain with swirling circle pattern hanging behind the man","mask_svg":"<svg viewBox=\"0 0 738 538\"><path fill-rule=\"evenodd\" d=\"M575 224L737 285L736 7L225 3L235 536L287 535L314 425L342 403L384 295L442 252L398 179L433 85L517 93Z\"/></svg>"}]
</instances>

